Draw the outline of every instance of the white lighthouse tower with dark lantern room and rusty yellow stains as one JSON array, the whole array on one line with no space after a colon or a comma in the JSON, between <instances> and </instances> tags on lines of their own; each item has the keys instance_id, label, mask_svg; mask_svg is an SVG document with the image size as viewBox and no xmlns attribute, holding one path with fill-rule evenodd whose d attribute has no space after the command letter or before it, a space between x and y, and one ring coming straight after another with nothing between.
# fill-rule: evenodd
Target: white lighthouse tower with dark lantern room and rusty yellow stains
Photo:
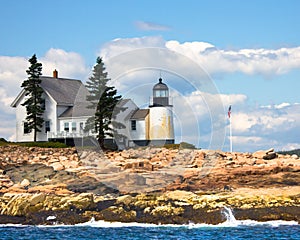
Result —
<instances>
[{"instance_id":1,"label":"white lighthouse tower with dark lantern room and rusty yellow stains","mask_svg":"<svg viewBox=\"0 0 300 240\"><path fill-rule=\"evenodd\" d=\"M149 139L153 145L174 143L173 106L169 88L159 78L153 87L152 105L149 106Z\"/></svg>"}]
</instances>

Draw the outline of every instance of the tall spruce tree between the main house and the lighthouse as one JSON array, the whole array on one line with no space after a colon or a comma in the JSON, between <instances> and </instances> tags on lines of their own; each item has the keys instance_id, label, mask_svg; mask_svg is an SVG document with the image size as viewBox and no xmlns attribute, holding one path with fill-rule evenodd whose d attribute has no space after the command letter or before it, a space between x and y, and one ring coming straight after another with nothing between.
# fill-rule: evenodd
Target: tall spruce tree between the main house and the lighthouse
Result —
<instances>
[{"instance_id":1,"label":"tall spruce tree between the main house and the lighthouse","mask_svg":"<svg viewBox=\"0 0 300 240\"><path fill-rule=\"evenodd\" d=\"M117 123L113 119L122 111L118 107L122 96L117 95L115 87L107 86L110 80L107 75L102 58L98 57L93 74L86 82L86 88L90 93L87 96L87 101L90 102L88 108L95 110L95 115L87 120L86 130L93 130L97 134L97 140L102 149L105 149L104 139L108 136L115 136L113 125Z\"/></svg>"}]
</instances>

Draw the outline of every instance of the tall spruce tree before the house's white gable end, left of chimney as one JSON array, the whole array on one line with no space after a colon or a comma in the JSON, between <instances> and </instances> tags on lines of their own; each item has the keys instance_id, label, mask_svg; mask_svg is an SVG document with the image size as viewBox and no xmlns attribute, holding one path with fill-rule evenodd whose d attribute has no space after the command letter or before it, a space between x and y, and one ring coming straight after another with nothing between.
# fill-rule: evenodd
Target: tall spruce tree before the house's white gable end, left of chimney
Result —
<instances>
[{"instance_id":1,"label":"tall spruce tree before the house's white gable end, left of chimney","mask_svg":"<svg viewBox=\"0 0 300 240\"><path fill-rule=\"evenodd\" d=\"M22 106L26 107L26 123L29 132L33 131L33 141L36 142L37 133L41 132L44 119L42 115L44 110L42 108L43 89L40 87L42 75L42 64L37 61L37 57L34 54L29 59L30 66L26 73L28 78L23 81L21 87L25 90L26 100L22 103Z\"/></svg>"}]
</instances>

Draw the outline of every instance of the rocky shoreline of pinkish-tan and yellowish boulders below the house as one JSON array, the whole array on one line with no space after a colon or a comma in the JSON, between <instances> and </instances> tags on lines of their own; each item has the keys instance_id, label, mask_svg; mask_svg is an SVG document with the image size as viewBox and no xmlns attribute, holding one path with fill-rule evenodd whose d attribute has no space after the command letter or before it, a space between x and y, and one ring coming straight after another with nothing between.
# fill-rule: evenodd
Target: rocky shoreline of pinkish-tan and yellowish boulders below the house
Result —
<instances>
[{"instance_id":1,"label":"rocky shoreline of pinkish-tan and yellowish boulders below the house","mask_svg":"<svg viewBox=\"0 0 300 240\"><path fill-rule=\"evenodd\" d=\"M95 220L155 224L236 219L300 223L300 159L140 148L120 152L0 147L0 224Z\"/></svg>"}]
</instances>

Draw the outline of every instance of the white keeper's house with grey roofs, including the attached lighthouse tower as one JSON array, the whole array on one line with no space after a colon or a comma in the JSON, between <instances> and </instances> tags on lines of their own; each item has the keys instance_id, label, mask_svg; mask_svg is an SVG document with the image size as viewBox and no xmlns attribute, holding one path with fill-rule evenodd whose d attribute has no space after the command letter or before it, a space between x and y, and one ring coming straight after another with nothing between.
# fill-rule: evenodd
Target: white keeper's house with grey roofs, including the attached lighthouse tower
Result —
<instances>
[{"instance_id":1,"label":"white keeper's house with grey roofs, including the attached lighthouse tower","mask_svg":"<svg viewBox=\"0 0 300 240\"><path fill-rule=\"evenodd\" d=\"M37 134L37 141L60 141L74 144L75 140L93 137L84 131L86 121L95 110L87 108L89 94L80 80L59 78L55 70L52 77L40 76L44 93L44 124ZM16 109L16 141L29 142L33 133L28 131L23 89L11 106ZM118 129L117 139L113 141L120 149L127 147L162 145L174 143L173 106L170 105L168 86L159 79L152 89L152 99L147 109L139 109L131 99L123 99L119 106L125 109L117 115L116 121L125 128ZM120 135L119 135L120 134ZM120 137L122 136L122 137Z\"/></svg>"}]
</instances>

